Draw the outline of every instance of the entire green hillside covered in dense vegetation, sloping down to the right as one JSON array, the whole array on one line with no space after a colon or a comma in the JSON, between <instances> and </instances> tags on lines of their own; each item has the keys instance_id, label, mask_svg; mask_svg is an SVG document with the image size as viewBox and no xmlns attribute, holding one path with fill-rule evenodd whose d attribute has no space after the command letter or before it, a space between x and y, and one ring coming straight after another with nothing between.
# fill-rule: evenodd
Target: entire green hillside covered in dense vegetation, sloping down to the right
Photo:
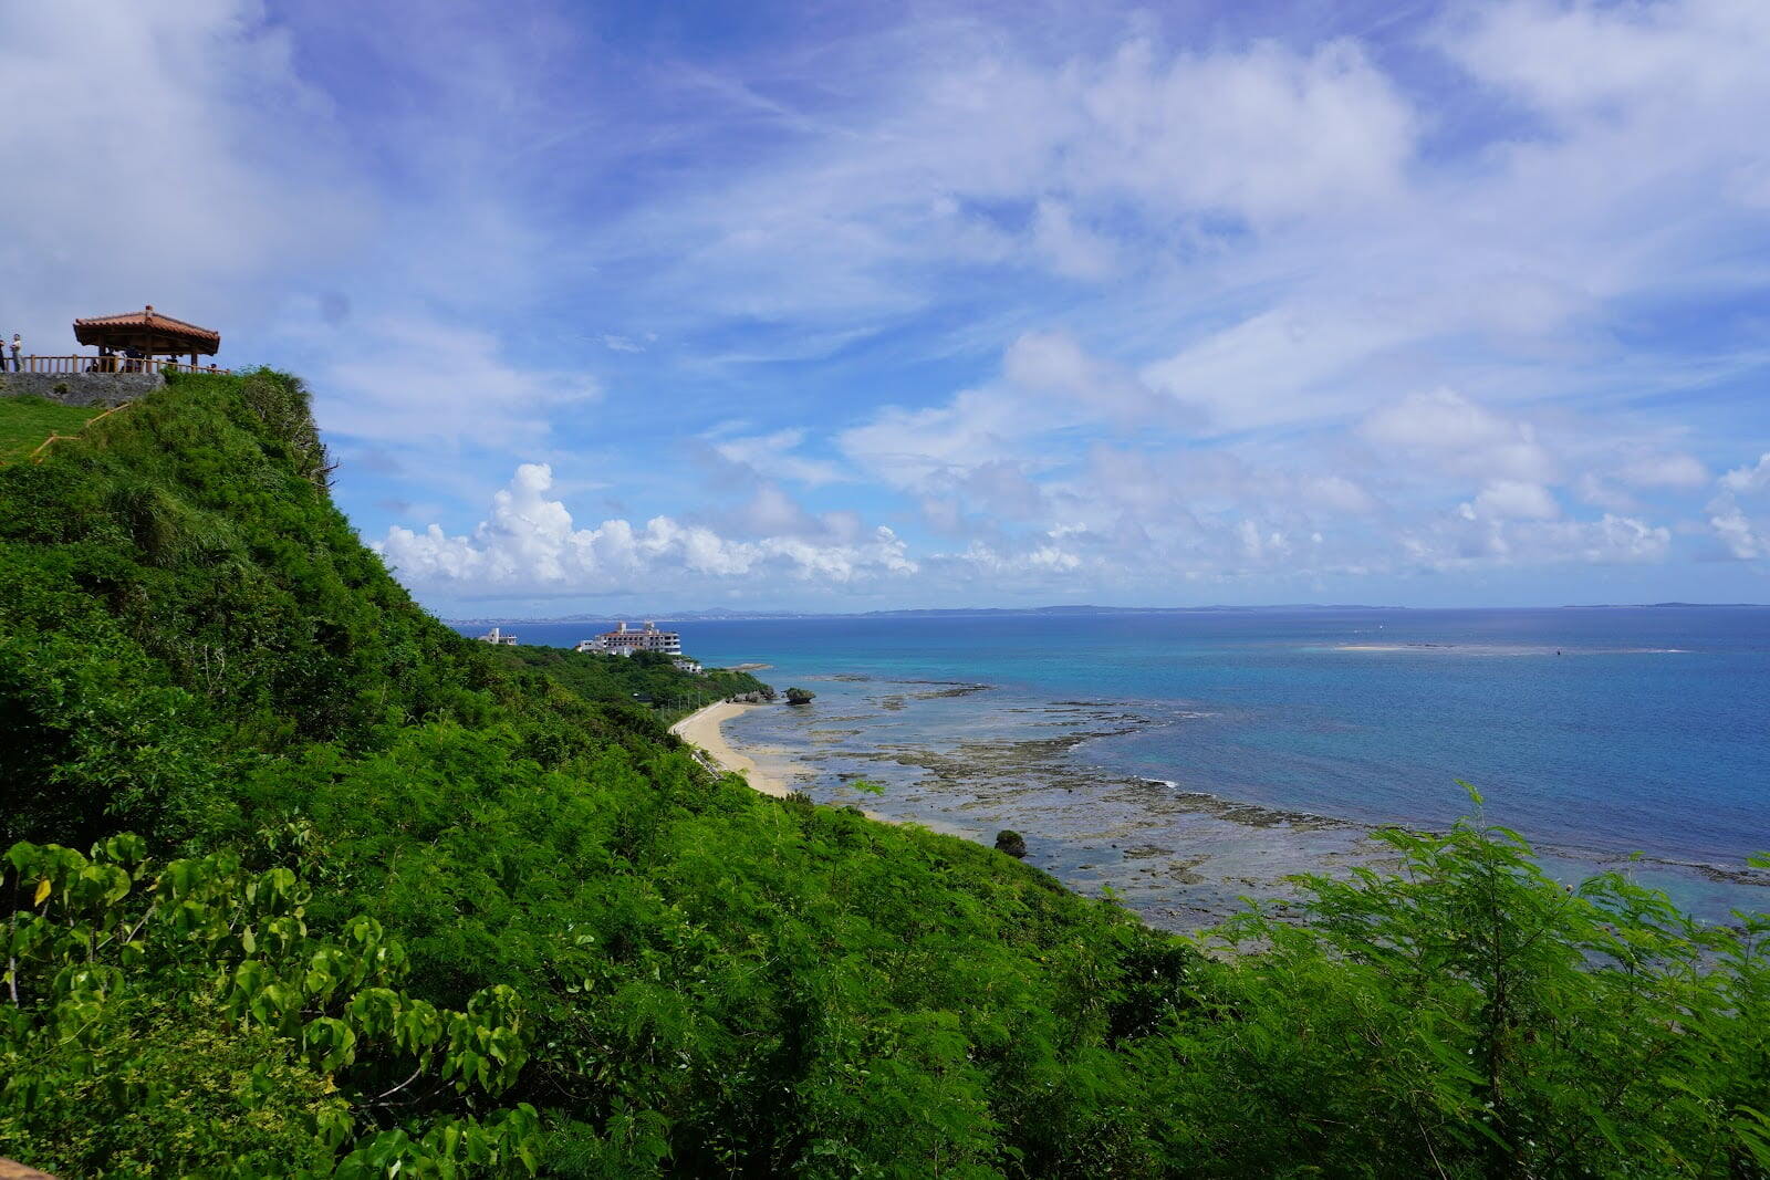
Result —
<instances>
[{"instance_id":1,"label":"entire green hillside covered in dense vegetation, sloping down to the right","mask_svg":"<svg viewBox=\"0 0 1770 1180\"><path fill-rule=\"evenodd\" d=\"M327 478L271 372L0 467L0 1155L1770 1171L1763 918L1568 892L1464 824L1200 954L989 847L710 777L635 690L419 610Z\"/></svg>"}]
</instances>

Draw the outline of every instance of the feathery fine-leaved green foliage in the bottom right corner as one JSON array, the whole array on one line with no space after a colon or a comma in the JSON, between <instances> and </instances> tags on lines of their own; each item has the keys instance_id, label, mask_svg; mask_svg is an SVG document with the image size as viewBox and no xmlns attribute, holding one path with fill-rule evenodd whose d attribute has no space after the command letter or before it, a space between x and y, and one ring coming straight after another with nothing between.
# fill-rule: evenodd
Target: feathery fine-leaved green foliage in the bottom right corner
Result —
<instances>
[{"instance_id":1,"label":"feathery fine-leaved green foliage in the bottom right corner","mask_svg":"<svg viewBox=\"0 0 1770 1180\"><path fill-rule=\"evenodd\" d=\"M1209 936L1212 1019L1138 1049L1212 1175L1770 1175L1770 920L1568 888L1504 828L1382 833L1304 920ZM1228 954L1243 948L1243 954Z\"/></svg>"}]
</instances>

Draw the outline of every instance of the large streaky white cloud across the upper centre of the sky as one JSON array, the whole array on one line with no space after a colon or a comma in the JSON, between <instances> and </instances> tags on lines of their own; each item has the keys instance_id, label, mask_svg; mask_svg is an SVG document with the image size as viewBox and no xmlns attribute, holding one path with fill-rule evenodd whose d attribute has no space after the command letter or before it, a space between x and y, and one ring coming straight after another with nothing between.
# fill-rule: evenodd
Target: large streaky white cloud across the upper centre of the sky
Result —
<instances>
[{"instance_id":1,"label":"large streaky white cloud across the upper centre of the sky","mask_svg":"<svg viewBox=\"0 0 1770 1180\"><path fill-rule=\"evenodd\" d=\"M837 131L648 205L611 226L609 251L658 244L680 260L655 276L660 294L717 315L897 315L952 262L1117 272L1126 249L1096 214L1129 211L1140 237L1198 218L1368 216L1400 191L1418 134L1349 41L1186 53L1133 39L1050 64L947 23L867 42L887 50L906 67L869 60L883 87Z\"/></svg>"}]
</instances>

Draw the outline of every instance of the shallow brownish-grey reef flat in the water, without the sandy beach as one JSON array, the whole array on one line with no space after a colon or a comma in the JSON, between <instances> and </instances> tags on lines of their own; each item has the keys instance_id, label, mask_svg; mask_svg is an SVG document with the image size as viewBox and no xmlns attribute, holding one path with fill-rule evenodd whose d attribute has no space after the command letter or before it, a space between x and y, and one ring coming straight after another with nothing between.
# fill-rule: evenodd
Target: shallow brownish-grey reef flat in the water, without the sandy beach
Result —
<instances>
[{"instance_id":1,"label":"shallow brownish-grey reef flat in the water, without the sandy beach","mask_svg":"<svg viewBox=\"0 0 1770 1180\"><path fill-rule=\"evenodd\" d=\"M1386 867L1391 849L1372 826L1193 789L1186 782L1115 773L1090 757L1096 743L1216 716L1177 702L1035 701L986 683L839 674L811 709L758 709L727 725L791 766L793 789L818 801L919 823L979 842L1004 828L1027 840L1027 860L1085 893L1112 892L1145 922L1172 931L1212 925L1257 899L1283 911L1296 874ZM940 685L936 690L917 685ZM883 794L853 784L883 785ZM1612 867L1604 858L1545 849L1568 876ZM1763 885L1761 872L1641 858L1680 877ZM1759 890L1747 888L1756 895ZM1712 916L1724 916L1715 906Z\"/></svg>"}]
</instances>

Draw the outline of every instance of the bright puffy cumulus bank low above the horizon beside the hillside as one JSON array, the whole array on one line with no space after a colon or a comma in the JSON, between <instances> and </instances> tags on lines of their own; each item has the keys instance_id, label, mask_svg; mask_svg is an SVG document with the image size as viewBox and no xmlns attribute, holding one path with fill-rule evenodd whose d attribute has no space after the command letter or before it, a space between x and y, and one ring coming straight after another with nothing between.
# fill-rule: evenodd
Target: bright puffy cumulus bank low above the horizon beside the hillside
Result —
<instances>
[{"instance_id":1,"label":"bright puffy cumulus bank low above the horizon beside the hillside","mask_svg":"<svg viewBox=\"0 0 1770 1180\"><path fill-rule=\"evenodd\" d=\"M917 571L904 543L883 525L834 545L798 536L736 541L671 517L581 529L565 502L550 499L552 485L547 464L522 464L471 534L395 525L375 550L414 586L467 594L658 593L733 580L766 586L781 577L851 584Z\"/></svg>"}]
</instances>

